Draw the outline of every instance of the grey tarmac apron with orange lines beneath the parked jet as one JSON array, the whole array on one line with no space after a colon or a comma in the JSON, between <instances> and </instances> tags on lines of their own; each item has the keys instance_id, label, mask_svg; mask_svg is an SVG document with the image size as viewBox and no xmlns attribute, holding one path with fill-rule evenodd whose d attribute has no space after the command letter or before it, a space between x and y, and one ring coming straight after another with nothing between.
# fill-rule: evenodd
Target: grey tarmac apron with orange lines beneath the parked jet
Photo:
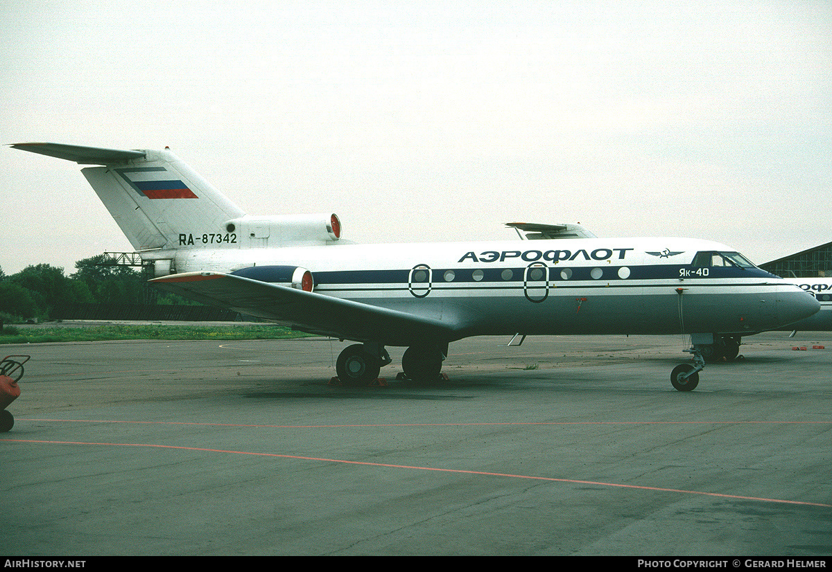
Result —
<instances>
[{"instance_id":1,"label":"grey tarmac apron with orange lines beneath the parked jet","mask_svg":"<svg viewBox=\"0 0 832 572\"><path fill-rule=\"evenodd\" d=\"M787 335L693 392L681 336L471 338L427 385L389 348L360 388L330 382L327 338L5 346L31 360L0 555L826 561L832 334Z\"/></svg>"}]
</instances>

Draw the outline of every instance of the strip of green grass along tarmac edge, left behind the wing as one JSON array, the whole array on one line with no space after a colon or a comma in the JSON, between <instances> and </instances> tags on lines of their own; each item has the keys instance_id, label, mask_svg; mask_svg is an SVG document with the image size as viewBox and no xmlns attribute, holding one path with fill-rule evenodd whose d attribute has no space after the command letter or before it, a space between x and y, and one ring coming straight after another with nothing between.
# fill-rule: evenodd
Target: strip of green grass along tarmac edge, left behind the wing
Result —
<instances>
[{"instance_id":1,"label":"strip of green grass along tarmac edge, left behind the wing","mask_svg":"<svg viewBox=\"0 0 832 572\"><path fill-rule=\"evenodd\" d=\"M309 334L295 332L275 324L199 326L179 324L102 324L100 326L47 326L41 328L3 328L0 343L101 342L109 340L243 340L304 338Z\"/></svg>"}]
</instances>

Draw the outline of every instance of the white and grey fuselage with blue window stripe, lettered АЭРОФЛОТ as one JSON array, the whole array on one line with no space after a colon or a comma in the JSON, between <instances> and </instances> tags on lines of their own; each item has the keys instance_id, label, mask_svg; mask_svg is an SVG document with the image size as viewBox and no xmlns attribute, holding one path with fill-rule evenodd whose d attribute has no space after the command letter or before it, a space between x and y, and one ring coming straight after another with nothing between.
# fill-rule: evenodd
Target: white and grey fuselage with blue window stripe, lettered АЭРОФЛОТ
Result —
<instances>
[{"instance_id":1,"label":"white and grey fuselage with blue window stripe, lettered \u0410\u042d\u0420\u041e\u0424\u041b\u041e\u0422","mask_svg":"<svg viewBox=\"0 0 832 572\"><path fill-rule=\"evenodd\" d=\"M557 239L179 249L173 271L300 267L314 292L488 334L754 333L810 316L817 303L753 266L693 265L700 239ZM159 258L163 253L147 253ZM383 341L383 340L379 340Z\"/></svg>"}]
</instances>

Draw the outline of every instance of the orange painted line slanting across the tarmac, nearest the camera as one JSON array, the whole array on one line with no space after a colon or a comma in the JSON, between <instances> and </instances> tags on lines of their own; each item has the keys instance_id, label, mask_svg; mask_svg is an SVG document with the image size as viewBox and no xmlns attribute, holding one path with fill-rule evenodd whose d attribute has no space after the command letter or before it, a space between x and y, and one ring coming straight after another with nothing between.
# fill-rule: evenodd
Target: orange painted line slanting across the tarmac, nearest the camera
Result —
<instances>
[{"instance_id":1,"label":"orange painted line slanting across the tarmac, nearest the camera","mask_svg":"<svg viewBox=\"0 0 832 572\"><path fill-rule=\"evenodd\" d=\"M463 469L442 469L438 467L431 467L431 466L410 466L410 465L391 465L388 463L371 463L369 461L344 461L343 459L325 459L320 457L314 456L298 456L298 455L280 455L279 453L255 453L250 451L227 451L225 449L206 449L203 447L189 447L189 446L175 446L175 445L152 445L146 443L90 443L90 442L82 442L82 441L39 441L39 440L30 440L30 439L0 439L0 441L10 441L10 442L17 442L17 443L45 443L50 445L103 445L103 446L136 446L136 447L154 447L160 449L179 449L183 451L203 451L203 452L211 452L211 453L229 453L232 455L250 455L250 456L271 456L271 457L281 457L284 459L298 459L302 461L324 461L324 462L331 462L331 463L344 463L349 465L364 465L364 466L384 466L388 468L394 469L413 469L416 471L441 471L441 472L450 472L450 473L460 473L464 475L482 475L482 476L504 476L513 479L528 479L532 481L550 481L550 482L565 482L571 483L575 485L597 485L597 486L611 486L616 488L622 489L637 489L641 491L659 491L659 492L676 492L681 493L684 495L701 495L701 496L716 496L720 498L726 499L739 499L739 500L760 500L762 502L775 502L780 504L787 504L787 505L807 505L807 506L820 506L824 508L832 508L832 505L825 505L823 503L818 502L805 502L802 500L783 500L783 499L769 499L760 496L739 496L739 495L725 495L722 493L716 492L703 492L703 491L685 491L682 489L666 489L660 488L656 486L638 486L638 485L622 485L619 483L607 483L607 482L600 482L600 481L577 481L575 479L556 479L549 476L527 476L527 475L513 475L511 473L494 473L494 472L485 472L485 471L466 471Z\"/></svg>"}]
</instances>

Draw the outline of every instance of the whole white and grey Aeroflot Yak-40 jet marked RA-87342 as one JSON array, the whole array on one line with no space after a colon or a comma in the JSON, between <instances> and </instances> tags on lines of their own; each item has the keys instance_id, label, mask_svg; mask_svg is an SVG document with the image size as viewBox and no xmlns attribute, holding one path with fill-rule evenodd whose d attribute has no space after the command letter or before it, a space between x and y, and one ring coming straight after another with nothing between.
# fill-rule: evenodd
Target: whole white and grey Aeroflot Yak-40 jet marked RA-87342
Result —
<instances>
[{"instance_id":1,"label":"whole white and grey Aeroflot Yak-40 jet marked RA-87342","mask_svg":"<svg viewBox=\"0 0 832 572\"><path fill-rule=\"evenodd\" d=\"M76 161L158 278L203 303L358 342L339 355L345 384L366 384L408 348L404 373L436 379L448 343L535 334L720 335L807 318L818 301L701 239L598 239L579 225L511 224L520 243L351 244L336 215L252 216L170 150L54 143L16 149ZM550 237L559 237L547 239ZM522 343L522 340L521 340ZM671 373L690 391L704 366Z\"/></svg>"}]
</instances>

